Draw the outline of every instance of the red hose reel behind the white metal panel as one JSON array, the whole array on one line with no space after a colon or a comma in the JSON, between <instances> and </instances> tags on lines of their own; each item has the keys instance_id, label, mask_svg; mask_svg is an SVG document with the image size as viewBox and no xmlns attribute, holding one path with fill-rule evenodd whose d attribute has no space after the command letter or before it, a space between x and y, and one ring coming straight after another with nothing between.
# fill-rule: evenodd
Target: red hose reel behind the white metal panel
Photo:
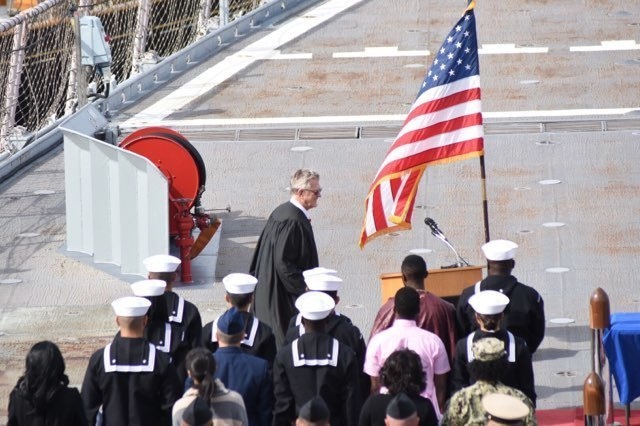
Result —
<instances>
[{"instance_id":1,"label":"red hose reel behind the white metal panel","mask_svg":"<svg viewBox=\"0 0 640 426\"><path fill-rule=\"evenodd\" d=\"M182 282L193 282L191 259L200 254L220 227L220 220L205 213L200 204L207 178L200 153L180 133L164 127L137 130L120 143L120 148L149 159L166 176L169 235L180 248ZM200 229L197 240L192 234L196 227Z\"/></svg>"}]
</instances>

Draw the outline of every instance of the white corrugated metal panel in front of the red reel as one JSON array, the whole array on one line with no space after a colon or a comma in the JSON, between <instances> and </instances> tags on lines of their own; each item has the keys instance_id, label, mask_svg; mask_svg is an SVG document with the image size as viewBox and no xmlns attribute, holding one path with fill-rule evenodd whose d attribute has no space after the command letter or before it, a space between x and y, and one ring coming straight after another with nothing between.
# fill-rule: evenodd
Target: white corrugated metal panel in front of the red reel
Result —
<instances>
[{"instance_id":1,"label":"white corrugated metal panel in front of the red reel","mask_svg":"<svg viewBox=\"0 0 640 426\"><path fill-rule=\"evenodd\" d=\"M169 253L169 187L147 158L73 130L64 134L67 250L146 276Z\"/></svg>"}]
</instances>

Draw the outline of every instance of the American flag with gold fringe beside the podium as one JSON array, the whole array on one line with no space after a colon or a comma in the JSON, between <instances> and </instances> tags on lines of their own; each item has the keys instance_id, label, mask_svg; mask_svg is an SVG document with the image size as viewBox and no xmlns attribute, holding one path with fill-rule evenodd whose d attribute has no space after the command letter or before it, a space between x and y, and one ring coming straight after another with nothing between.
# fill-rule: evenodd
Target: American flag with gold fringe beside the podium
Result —
<instances>
[{"instance_id":1,"label":"American flag with gold fringe beside the podium","mask_svg":"<svg viewBox=\"0 0 640 426\"><path fill-rule=\"evenodd\" d=\"M372 238L411 229L425 168L483 154L480 68L471 2L435 54L418 97L365 200L360 247Z\"/></svg>"}]
</instances>

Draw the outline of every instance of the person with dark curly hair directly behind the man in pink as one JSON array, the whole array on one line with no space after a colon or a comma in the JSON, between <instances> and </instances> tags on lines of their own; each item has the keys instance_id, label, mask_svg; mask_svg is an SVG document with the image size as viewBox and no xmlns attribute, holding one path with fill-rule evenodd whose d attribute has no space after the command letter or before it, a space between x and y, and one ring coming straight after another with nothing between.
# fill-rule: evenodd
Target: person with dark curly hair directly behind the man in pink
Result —
<instances>
[{"instance_id":1,"label":"person with dark curly hair directly behind the man in pink","mask_svg":"<svg viewBox=\"0 0 640 426\"><path fill-rule=\"evenodd\" d=\"M420 393L427 380L420 356L411 349L399 349L386 359L380 369L380 381L389 393L370 395L362 406L359 426L384 426L387 405L398 393L406 394L415 404L420 426L437 426L433 404Z\"/></svg>"}]
</instances>

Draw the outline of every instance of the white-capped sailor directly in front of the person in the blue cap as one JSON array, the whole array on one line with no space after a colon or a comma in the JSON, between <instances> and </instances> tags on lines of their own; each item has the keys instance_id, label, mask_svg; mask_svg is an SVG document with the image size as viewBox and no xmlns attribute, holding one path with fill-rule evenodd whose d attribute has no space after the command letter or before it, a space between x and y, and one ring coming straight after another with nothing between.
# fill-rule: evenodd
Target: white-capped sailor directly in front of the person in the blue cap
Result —
<instances>
[{"instance_id":1,"label":"white-capped sailor directly in front of the person in the blue cap","mask_svg":"<svg viewBox=\"0 0 640 426\"><path fill-rule=\"evenodd\" d=\"M242 273L233 273L222 279L226 290L225 300L229 308L236 308L242 315L244 321L244 336L240 345L243 352L255 355L266 360L269 367L273 365L276 357L276 338L265 322L260 321L249 312L253 303L253 292L258 280ZM220 317L206 324L202 328L202 346L211 352L218 349L218 338L216 337L218 327L216 323Z\"/></svg>"}]
</instances>

